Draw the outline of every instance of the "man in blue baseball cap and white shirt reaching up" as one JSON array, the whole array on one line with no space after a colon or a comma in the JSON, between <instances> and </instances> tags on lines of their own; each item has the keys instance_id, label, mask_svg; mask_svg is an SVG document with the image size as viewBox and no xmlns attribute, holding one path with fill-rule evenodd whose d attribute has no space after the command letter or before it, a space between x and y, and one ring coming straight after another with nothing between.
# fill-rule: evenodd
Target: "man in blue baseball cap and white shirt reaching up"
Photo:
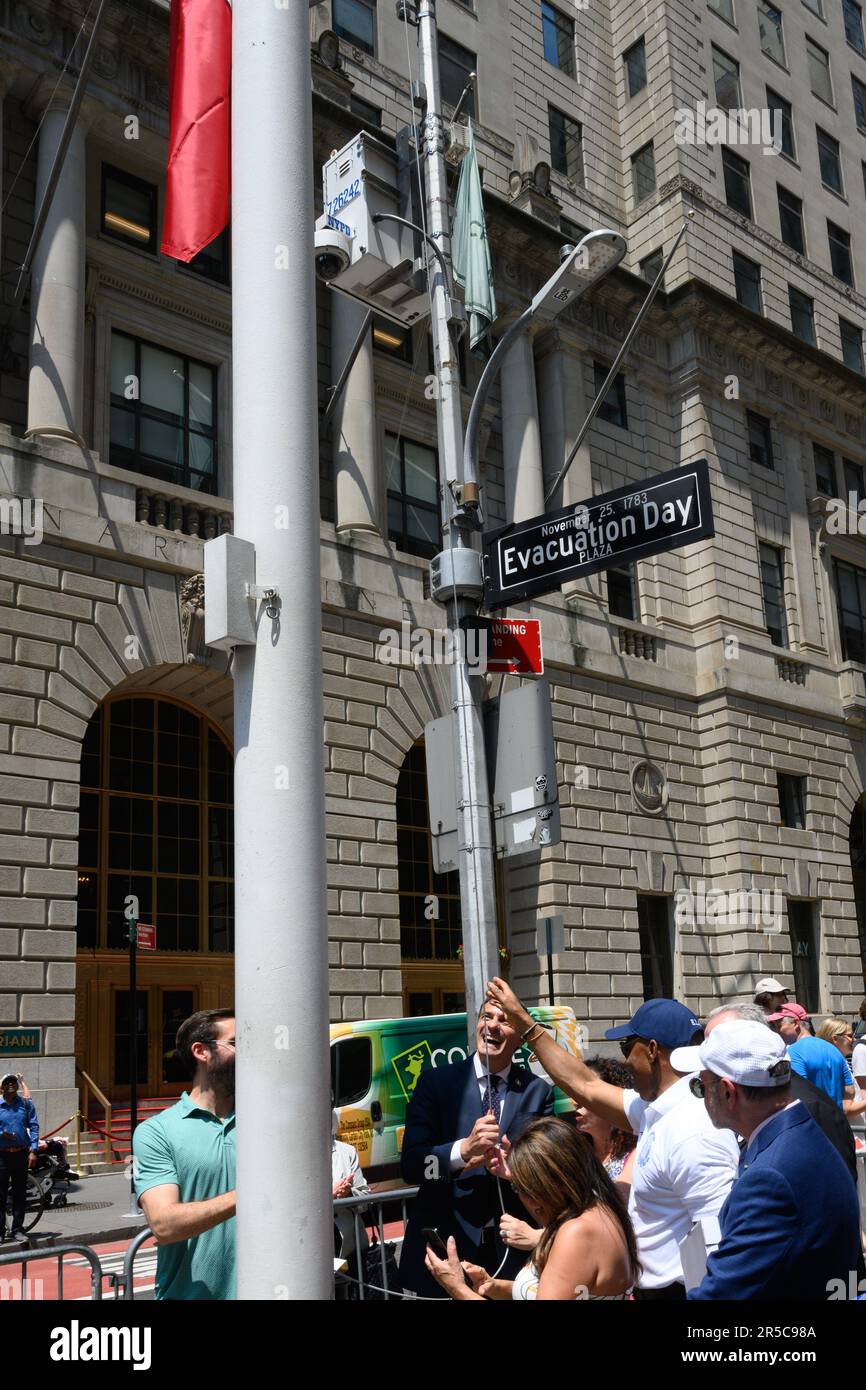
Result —
<instances>
[{"instance_id":1,"label":"man in blue baseball cap and white shirt reaching up","mask_svg":"<svg viewBox=\"0 0 866 1390\"><path fill-rule=\"evenodd\" d=\"M512 1027L534 1022L505 983L491 980L487 997ZM634 1076L634 1090L610 1086L549 1034L532 1036L532 1051L552 1081L578 1105L638 1136L628 1215L638 1241L641 1279L635 1298L685 1298L680 1241L701 1222L708 1250L719 1244L719 1212L740 1163L731 1130L714 1129L692 1095L688 1076L670 1065L674 1048L699 1042L701 1020L677 999L648 999L606 1038L617 1041Z\"/></svg>"}]
</instances>

